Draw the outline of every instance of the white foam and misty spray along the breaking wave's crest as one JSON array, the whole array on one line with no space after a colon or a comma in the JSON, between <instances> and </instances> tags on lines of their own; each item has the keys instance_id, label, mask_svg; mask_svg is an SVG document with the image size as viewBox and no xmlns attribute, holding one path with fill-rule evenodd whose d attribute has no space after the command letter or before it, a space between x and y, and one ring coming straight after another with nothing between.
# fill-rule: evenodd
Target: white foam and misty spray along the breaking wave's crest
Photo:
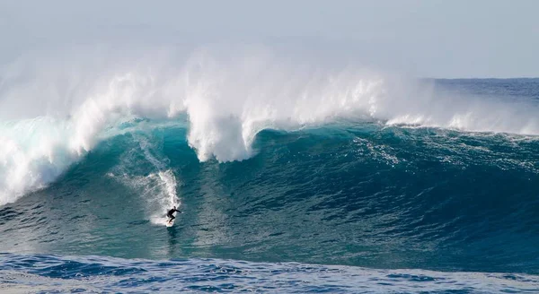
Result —
<instances>
[{"instance_id":1,"label":"white foam and misty spray along the breaking wave's crest","mask_svg":"<svg viewBox=\"0 0 539 294\"><path fill-rule=\"evenodd\" d=\"M262 129L335 119L539 134L533 101L456 96L269 48L70 48L0 70L0 205L53 181L119 125L187 117L199 160L245 160ZM166 172L166 169L159 169Z\"/></svg>"}]
</instances>

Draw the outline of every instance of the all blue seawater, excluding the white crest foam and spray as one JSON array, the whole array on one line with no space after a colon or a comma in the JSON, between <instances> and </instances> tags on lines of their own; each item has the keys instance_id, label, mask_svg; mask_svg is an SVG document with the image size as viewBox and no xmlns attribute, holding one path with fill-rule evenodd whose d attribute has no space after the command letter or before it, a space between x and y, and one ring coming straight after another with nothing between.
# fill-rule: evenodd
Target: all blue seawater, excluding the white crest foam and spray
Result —
<instances>
[{"instance_id":1,"label":"all blue seawater, excluding the white crest foam and spray","mask_svg":"<svg viewBox=\"0 0 539 294\"><path fill-rule=\"evenodd\" d=\"M539 98L538 80L435 88ZM534 132L346 117L265 128L250 157L220 162L199 160L187 120L111 125L0 206L0 290L539 291ZM183 213L167 229L171 197Z\"/></svg>"}]
</instances>

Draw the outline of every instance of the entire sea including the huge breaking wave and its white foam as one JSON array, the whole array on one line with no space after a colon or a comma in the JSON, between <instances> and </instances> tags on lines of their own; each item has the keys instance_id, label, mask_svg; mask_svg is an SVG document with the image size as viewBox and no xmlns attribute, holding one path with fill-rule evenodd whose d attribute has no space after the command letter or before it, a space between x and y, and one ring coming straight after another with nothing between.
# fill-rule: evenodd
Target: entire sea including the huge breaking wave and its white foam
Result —
<instances>
[{"instance_id":1,"label":"entire sea including the huge breaking wave and its white foam","mask_svg":"<svg viewBox=\"0 0 539 294\"><path fill-rule=\"evenodd\" d=\"M0 292L539 292L539 80L209 68L4 75Z\"/></svg>"}]
</instances>

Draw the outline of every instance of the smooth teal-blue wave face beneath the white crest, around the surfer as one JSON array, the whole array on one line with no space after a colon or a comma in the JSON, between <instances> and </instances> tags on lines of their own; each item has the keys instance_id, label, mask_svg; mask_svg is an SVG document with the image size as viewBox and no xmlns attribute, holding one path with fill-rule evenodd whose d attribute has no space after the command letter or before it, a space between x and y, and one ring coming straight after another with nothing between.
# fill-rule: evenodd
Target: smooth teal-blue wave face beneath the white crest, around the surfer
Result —
<instances>
[{"instance_id":1,"label":"smooth teal-blue wave face beneath the white crest, around the surfer","mask_svg":"<svg viewBox=\"0 0 539 294\"><path fill-rule=\"evenodd\" d=\"M199 161L184 126L147 124L134 123L136 131L97 144L48 187L4 205L2 247L537 269L535 138L342 122L262 131L251 159L220 163ZM156 227L180 200L174 229Z\"/></svg>"}]
</instances>

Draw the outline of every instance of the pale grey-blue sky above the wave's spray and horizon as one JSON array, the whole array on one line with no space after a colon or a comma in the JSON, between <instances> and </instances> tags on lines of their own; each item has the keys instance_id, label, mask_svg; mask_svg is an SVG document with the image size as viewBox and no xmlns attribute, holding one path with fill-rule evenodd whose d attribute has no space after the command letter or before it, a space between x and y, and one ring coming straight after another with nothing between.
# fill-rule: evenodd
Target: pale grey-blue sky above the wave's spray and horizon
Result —
<instances>
[{"instance_id":1,"label":"pale grey-blue sky above the wave's spray and horizon","mask_svg":"<svg viewBox=\"0 0 539 294\"><path fill-rule=\"evenodd\" d=\"M0 1L0 64L70 44L290 46L415 77L538 77L539 1Z\"/></svg>"}]
</instances>

